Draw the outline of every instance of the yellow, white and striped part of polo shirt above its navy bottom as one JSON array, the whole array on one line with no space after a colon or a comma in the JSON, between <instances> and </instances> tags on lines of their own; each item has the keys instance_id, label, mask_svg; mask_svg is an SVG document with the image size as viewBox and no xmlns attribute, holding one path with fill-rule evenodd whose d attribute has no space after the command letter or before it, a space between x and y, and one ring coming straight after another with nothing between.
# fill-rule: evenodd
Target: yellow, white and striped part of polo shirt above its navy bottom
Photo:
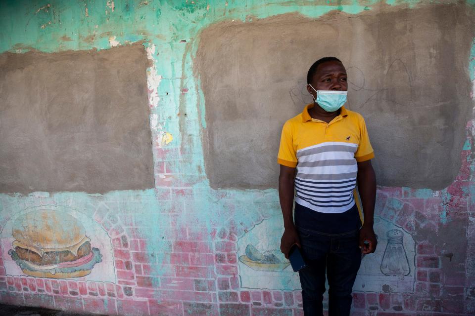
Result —
<instances>
[{"instance_id":1,"label":"yellow, white and striped part of polo shirt above its navy bottom","mask_svg":"<svg viewBox=\"0 0 475 316\"><path fill-rule=\"evenodd\" d=\"M302 113L282 129L278 162L297 168L295 202L322 213L343 213L355 205L357 162L374 158L364 118L341 107L331 122Z\"/></svg>"}]
</instances>

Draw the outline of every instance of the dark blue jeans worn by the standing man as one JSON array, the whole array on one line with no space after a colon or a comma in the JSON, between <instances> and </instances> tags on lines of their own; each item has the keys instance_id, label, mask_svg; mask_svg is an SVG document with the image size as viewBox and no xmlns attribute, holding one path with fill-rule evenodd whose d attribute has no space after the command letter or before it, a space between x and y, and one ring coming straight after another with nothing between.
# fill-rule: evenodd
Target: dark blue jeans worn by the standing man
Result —
<instances>
[{"instance_id":1,"label":"dark blue jeans worn by the standing man","mask_svg":"<svg viewBox=\"0 0 475 316\"><path fill-rule=\"evenodd\" d=\"M324 234L297 227L307 267L299 271L305 316L323 314L325 273L329 284L329 316L349 316L351 292L360 269L359 230Z\"/></svg>"}]
</instances>

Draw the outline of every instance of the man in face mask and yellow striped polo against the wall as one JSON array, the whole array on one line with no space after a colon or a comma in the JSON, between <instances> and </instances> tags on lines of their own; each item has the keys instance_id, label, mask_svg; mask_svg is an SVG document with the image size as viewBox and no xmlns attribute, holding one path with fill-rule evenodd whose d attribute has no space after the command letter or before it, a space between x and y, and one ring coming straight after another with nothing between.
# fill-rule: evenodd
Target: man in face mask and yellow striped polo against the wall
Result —
<instances>
[{"instance_id":1,"label":"man in face mask and yellow striped polo against the wall","mask_svg":"<svg viewBox=\"0 0 475 316\"><path fill-rule=\"evenodd\" d=\"M343 107L346 70L335 57L316 61L307 74L315 102L285 122L278 162L285 232L281 251L296 244L307 267L299 271L306 316L323 313L325 275L329 316L349 316L361 254L374 252L374 158L363 117ZM361 224L353 191L358 184ZM295 223L292 206L295 196Z\"/></svg>"}]
</instances>

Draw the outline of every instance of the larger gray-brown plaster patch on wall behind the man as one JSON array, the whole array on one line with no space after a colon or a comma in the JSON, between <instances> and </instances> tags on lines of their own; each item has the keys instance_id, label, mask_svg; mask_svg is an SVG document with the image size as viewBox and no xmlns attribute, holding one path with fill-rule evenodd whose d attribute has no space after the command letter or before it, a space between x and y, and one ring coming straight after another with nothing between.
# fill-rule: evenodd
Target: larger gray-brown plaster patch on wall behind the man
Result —
<instances>
[{"instance_id":1,"label":"larger gray-brown plaster patch on wall behind the man","mask_svg":"<svg viewBox=\"0 0 475 316\"><path fill-rule=\"evenodd\" d=\"M472 114L474 25L473 8L458 3L332 11L316 20L284 14L205 29L195 71L211 186L277 186L282 125L311 102L308 68L337 56L349 75L347 107L366 118L378 184L446 187L458 174Z\"/></svg>"}]
</instances>

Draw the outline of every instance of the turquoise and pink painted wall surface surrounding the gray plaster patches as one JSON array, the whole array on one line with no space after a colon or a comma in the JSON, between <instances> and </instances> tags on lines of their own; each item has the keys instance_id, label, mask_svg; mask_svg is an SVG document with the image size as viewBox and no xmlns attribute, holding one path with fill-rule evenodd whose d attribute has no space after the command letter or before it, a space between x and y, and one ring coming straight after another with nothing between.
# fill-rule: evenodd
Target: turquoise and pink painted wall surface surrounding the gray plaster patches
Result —
<instances>
[{"instance_id":1,"label":"turquoise and pink painted wall surface surrounding the gray plaster patches","mask_svg":"<svg viewBox=\"0 0 475 316\"><path fill-rule=\"evenodd\" d=\"M401 8L431 3L386 1ZM289 285L292 276L282 278L281 284L274 284L272 288L242 286L243 268L237 259L242 245L238 238L263 222L268 223L262 226L268 227L268 231L256 236L265 236L267 232L269 236L280 238L281 232L275 231L281 221L278 193L274 189L212 190L209 187L201 142L206 128L206 105L199 79L193 75L199 32L212 23L229 19L249 21L287 12L318 18L331 10L358 14L380 4L363 0L1 1L0 52L103 50L142 43L151 60L146 76L156 179L155 189L103 195L82 192L1 194L0 229L15 214L27 210L47 207L61 212L74 210L94 218L108 232L112 251L123 251L113 253L117 281L98 281L96 287L92 286L95 291L85 291L84 295L80 292L79 296L71 291L81 290L85 286L81 282L89 279L59 282L60 292L55 295L56 283L10 275L5 268L5 276L0 273L1 301L122 315L157 315L160 311L173 311L177 315L184 312L198 315L200 311L207 313L204 315L301 315L298 288ZM468 70L472 80L474 69L475 44ZM461 175L465 177L441 191L379 188L377 207L381 219L402 217L406 211L409 224L405 222L404 229L411 234L421 227L437 228L450 223L458 216L452 211L458 207L463 209L469 226L474 227L470 213L471 205L475 204L473 125L473 121L469 121L467 143L462 152ZM436 209L435 215L417 217L418 210L426 214L431 207ZM393 215L387 215L389 213ZM469 231L467 229L467 234ZM8 234L1 232L5 238ZM117 245L114 238L122 236L127 244ZM465 249L466 266L457 268L459 274L446 275L443 265L448 258L447 251L437 250L439 240L412 242L413 251L417 252L413 264L419 268L419 273L413 274L413 288L404 293L396 288L387 292L357 291L355 311L366 311L372 306L376 307L375 311L409 314L416 311L451 313L456 309L461 315L469 315L475 311L475 294L470 292L474 290L474 283L470 282L475 280L475 259L470 255L473 251L470 245ZM428 261L432 264L427 264ZM131 262L132 268L121 269L120 265L127 262ZM27 284L29 291L24 290L24 284L18 286L21 282ZM36 285L30 286L31 283ZM65 289L61 287L64 284ZM114 295L101 295L101 286ZM434 288L439 288L438 294ZM39 289L45 290L39 292ZM446 293L450 291L456 291L458 296L449 297ZM99 293L100 303L92 303L96 295L91 296L91 292ZM457 309L458 299L463 301L462 309ZM425 305L418 303L421 300Z\"/></svg>"}]
</instances>

